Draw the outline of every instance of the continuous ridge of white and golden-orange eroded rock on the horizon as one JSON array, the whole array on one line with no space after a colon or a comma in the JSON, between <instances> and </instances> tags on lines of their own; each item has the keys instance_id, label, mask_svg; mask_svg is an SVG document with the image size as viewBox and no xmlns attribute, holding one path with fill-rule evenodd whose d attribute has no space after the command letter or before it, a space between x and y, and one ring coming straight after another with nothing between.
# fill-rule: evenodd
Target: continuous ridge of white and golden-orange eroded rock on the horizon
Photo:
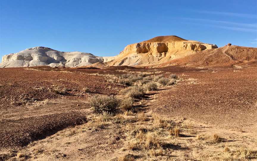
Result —
<instances>
[{"instance_id":1,"label":"continuous ridge of white and golden-orange eroded rock on the horizon","mask_svg":"<svg viewBox=\"0 0 257 161\"><path fill-rule=\"evenodd\" d=\"M184 58L202 50L218 48L214 44L185 40L177 36L159 36L150 40L127 45L115 57L99 57L91 53L61 52L47 47L34 47L5 55L0 67L103 67L149 66Z\"/></svg>"}]
</instances>

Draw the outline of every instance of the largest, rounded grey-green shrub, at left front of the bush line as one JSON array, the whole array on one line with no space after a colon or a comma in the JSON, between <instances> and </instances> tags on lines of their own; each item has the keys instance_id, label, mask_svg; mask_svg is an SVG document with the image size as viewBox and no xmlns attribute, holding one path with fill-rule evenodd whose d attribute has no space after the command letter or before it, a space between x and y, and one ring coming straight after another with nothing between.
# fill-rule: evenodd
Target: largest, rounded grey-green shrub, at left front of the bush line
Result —
<instances>
[{"instance_id":1,"label":"largest, rounded grey-green shrub, at left front of the bush line","mask_svg":"<svg viewBox=\"0 0 257 161\"><path fill-rule=\"evenodd\" d=\"M93 97L89 102L96 113L115 113L120 105L120 100L114 96Z\"/></svg>"}]
</instances>

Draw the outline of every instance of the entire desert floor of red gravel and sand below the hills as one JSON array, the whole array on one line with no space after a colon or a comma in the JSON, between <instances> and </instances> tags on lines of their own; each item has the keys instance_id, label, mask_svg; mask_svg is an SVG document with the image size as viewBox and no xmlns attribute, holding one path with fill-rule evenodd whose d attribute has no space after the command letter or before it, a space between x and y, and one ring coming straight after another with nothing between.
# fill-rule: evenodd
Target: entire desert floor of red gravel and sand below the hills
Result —
<instances>
[{"instance_id":1,"label":"entire desert floor of red gravel and sand below the hills","mask_svg":"<svg viewBox=\"0 0 257 161\"><path fill-rule=\"evenodd\" d=\"M1 68L0 127L0 160L257 160L257 66Z\"/></svg>"}]
</instances>

